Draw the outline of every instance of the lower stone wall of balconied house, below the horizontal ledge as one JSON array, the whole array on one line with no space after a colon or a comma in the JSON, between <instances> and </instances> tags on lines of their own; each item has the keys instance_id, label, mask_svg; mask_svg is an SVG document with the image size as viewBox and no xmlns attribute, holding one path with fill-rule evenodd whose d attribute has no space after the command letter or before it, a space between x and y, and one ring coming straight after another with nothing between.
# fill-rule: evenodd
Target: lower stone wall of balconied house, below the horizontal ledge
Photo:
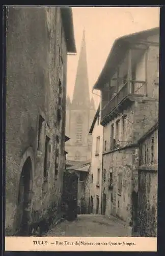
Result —
<instances>
[{"instance_id":1,"label":"lower stone wall of balconied house, below the horizontal ledge","mask_svg":"<svg viewBox=\"0 0 165 256\"><path fill-rule=\"evenodd\" d=\"M127 148L103 155L103 193L106 195L105 215L118 216L129 225L132 220L132 191L137 190L137 149ZM113 187L109 188L109 173L113 174ZM122 188L119 193L119 174ZM134 181L134 182L133 182Z\"/></svg>"}]
</instances>

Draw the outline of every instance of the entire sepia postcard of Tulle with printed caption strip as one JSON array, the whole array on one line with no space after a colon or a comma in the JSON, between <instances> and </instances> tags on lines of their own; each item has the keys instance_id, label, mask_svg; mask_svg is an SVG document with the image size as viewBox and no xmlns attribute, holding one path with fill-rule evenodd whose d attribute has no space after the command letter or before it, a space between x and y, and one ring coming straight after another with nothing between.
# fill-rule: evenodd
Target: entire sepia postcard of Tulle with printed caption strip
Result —
<instances>
[{"instance_id":1,"label":"entire sepia postcard of Tulle with printed caption strip","mask_svg":"<svg viewBox=\"0 0 165 256\"><path fill-rule=\"evenodd\" d=\"M5 250L156 251L159 7L5 8Z\"/></svg>"}]
</instances>

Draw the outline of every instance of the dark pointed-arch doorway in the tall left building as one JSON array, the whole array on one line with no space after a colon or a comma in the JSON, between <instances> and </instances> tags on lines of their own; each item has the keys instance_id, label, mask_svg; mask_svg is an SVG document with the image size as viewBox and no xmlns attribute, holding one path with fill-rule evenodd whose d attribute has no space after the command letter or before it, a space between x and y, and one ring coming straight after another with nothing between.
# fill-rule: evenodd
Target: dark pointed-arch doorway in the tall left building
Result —
<instances>
[{"instance_id":1,"label":"dark pointed-arch doorway in the tall left building","mask_svg":"<svg viewBox=\"0 0 165 256\"><path fill-rule=\"evenodd\" d=\"M32 161L28 157L23 164L18 191L16 229L20 236L29 235L31 220Z\"/></svg>"}]
</instances>

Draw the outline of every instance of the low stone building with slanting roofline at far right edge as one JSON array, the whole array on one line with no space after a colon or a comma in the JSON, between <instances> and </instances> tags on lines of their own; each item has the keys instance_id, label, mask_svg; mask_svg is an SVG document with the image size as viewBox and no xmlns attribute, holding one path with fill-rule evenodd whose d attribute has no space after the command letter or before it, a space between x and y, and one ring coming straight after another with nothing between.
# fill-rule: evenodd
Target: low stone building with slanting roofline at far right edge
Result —
<instances>
[{"instance_id":1,"label":"low stone building with slanting roofline at far right edge","mask_svg":"<svg viewBox=\"0 0 165 256\"><path fill-rule=\"evenodd\" d=\"M137 235L157 236L158 123L139 140Z\"/></svg>"}]
</instances>

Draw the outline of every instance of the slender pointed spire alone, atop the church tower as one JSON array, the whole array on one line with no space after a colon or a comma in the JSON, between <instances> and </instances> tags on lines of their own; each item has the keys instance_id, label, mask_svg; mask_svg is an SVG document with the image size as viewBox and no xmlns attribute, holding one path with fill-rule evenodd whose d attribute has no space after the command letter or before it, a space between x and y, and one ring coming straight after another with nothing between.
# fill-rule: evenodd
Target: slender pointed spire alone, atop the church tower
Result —
<instances>
[{"instance_id":1,"label":"slender pointed spire alone, atop the church tower","mask_svg":"<svg viewBox=\"0 0 165 256\"><path fill-rule=\"evenodd\" d=\"M88 84L88 70L87 70L87 55L86 55L86 40L85 30L82 34L81 48L78 59L77 74L75 79L75 86L73 92L72 108L81 106L89 107L90 94Z\"/></svg>"}]
</instances>

